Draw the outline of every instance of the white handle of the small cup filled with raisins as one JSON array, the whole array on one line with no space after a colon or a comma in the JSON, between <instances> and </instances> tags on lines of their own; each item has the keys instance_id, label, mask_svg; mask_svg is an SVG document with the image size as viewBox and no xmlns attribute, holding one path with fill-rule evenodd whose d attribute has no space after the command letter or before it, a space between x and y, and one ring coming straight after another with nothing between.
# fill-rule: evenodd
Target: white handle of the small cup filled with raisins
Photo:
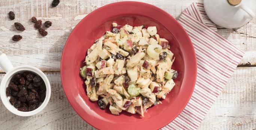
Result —
<instances>
[{"instance_id":1,"label":"white handle of the small cup filled with raisins","mask_svg":"<svg viewBox=\"0 0 256 130\"><path fill-rule=\"evenodd\" d=\"M4 72L8 72L10 71L13 66L12 63L10 62L10 60L7 58L7 56L5 55L5 53L2 53L0 55L0 67L4 70Z\"/></svg>"}]
</instances>

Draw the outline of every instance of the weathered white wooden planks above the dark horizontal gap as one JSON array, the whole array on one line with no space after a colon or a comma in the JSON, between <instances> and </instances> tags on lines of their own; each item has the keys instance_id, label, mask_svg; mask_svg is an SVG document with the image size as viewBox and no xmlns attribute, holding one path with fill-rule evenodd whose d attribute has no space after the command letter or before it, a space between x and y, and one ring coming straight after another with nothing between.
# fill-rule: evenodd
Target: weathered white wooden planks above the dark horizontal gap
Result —
<instances>
[{"instance_id":1,"label":"weathered white wooden planks above the dark horizontal gap","mask_svg":"<svg viewBox=\"0 0 256 130\"><path fill-rule=\"evenodd\" d=\"M122 0L62 0L52 8L52 0L0 0L0 51L6 53L14 66L33 65L42 71L60 71L61 54L69 34L86 14L109 3ZM137 0L138 1L138 0ZM164 9L178 18L180 13L193 1L202 0L140 0ZM9 20L8 12L15 12L15 20ZM53 25L46 29L48 35L42 37L31 23L36 16L43 23L50 20ZM21 22L26 30L15 29L14 22ZM228 38L238 48L246 52L240 65L256 65L256 18L240 29L220 29L218 33ZM13 35L22 35L19 42L11 40ZM0 72L3 72L0 69Z\"/></svg>"}]
</instances>

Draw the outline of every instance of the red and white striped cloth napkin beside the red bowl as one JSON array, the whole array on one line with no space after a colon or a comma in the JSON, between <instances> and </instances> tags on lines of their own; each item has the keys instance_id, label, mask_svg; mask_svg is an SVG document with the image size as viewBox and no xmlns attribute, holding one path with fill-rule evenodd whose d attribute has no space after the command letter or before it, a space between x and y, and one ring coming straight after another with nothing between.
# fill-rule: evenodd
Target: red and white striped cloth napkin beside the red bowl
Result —
<instances>
[{"instance_id":1,"label":"red and white striped cloth napkin beside the red bowl","mask_svg":"<svg viewBox=\"0 0 256 130\"><path fill-rule=\"evenodd\" d=\"M202 3L192 3L179 17L195 48L195 90L182 113L162 130L195 130L225 87L244 52L217 33Z\"/></svg>"}]
</instances>

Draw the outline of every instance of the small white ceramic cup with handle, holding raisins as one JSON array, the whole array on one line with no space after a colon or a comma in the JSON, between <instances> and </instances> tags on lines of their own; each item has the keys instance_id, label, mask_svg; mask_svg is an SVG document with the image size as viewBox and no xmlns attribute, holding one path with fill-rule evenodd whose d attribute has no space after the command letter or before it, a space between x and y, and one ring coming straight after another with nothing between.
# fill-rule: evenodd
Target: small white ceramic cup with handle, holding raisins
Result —
<instances>
[{"instance_id":1,"label":"small white ceramic cup with handle, holding raisins","mask_svg":"<svg viewBox=\"0 0 256 130\"><path fill-rule=\"evenodd\" d=\"M40 111L43 110L43 108L46 107L46 105L48 104L50 97L51 97L51 85L50 85L50 82L49 82L48 78L46 77L46 75L40 69L35 68L33 66L29 66L29 65L21 65L21 66L13 67L5 54L0 55L0 66L6 72L6 75L4 76L4 78L1 81L0 96L1 96L1 100L4 104L4 106L10 112L12 112L13 114L16 114L18 116L32 116L34 114L39 113ZM27 112L18 111L12 104L10 104L10 101L9 101L10 97L6 96L6 88L8 87L8 85L10 83L10 79L16 73L22 73L24 71L31 71L34 74L40 76L43 79L43 81L45 82L45 86L46 86L46 97L45 97L45 100L43 101L43 103L40 103L39 107L36 108L35 110L27 111Z\"/></svg>"}]
</instances>

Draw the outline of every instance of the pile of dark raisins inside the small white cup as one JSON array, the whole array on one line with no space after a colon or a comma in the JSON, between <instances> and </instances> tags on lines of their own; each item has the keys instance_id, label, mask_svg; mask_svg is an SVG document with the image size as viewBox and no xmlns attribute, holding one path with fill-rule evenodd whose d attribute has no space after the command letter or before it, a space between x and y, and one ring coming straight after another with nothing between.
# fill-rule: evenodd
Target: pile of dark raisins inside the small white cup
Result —
<instances>
[{"instance_id":1,"label":"pile of dark raisins inside the small white cup","mask_svg":"<svg viewBox=\"0 0 256 130\"><path fill-rule=\"evenodd\" d=\"M25 71L12 77L6 96L19 111L33 111L45 100L46 86L41 77Z\"/></svg>"}]
</instances>

